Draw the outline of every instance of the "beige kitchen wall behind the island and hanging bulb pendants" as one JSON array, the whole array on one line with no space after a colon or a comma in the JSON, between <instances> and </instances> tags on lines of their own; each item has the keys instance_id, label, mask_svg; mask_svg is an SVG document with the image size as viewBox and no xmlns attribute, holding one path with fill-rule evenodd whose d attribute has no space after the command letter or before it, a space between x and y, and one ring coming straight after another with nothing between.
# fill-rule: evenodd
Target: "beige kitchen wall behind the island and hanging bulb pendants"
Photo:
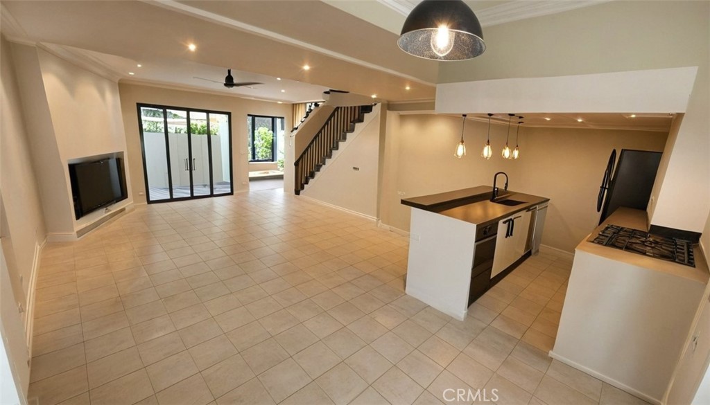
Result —
<instances>
[{"instance_id":1,"label":"beige kitchen wall behind the island and hanging bulb pendants","mask_svg":"<svg viewBox=\"0 0 710 405\"><path fill-rule=\"evenodd\" d=\"M396 172L388 171L396 178L390 182L396 189L383 190L383 223L408 231L409 208L400 204L401 198L490 185L493 174L503 171L510 177L511 190L550 197L542 243L568 252L599 222L596 195L611 150L662 151L667 138L666 133L644 131L523 128L520 159L503 160L507 126L493 125L493 157L484 160L480 154L487 125L469 120L464 138L467 155L457 159L454 149L461 118L402 115L399 121L400 130L392 124L393 131L387 134L396 138L388 143L399 144L399 155Z\"/></svg>"}]
</instances>

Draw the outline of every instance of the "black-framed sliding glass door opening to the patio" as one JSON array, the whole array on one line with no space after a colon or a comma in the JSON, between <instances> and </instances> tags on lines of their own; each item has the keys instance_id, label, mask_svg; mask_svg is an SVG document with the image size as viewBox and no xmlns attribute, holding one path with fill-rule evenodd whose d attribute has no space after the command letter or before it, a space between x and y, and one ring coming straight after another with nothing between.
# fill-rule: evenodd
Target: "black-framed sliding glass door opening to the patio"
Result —
<instances>
[{"instance_id":1,"label":"black-framed sliding glass door opening to the patio","mask_svg":"<svg viewBox=\"0 0 710 405\"><path fill-rule=\"evenodd\" d=\"M234 194L231 114L138 104L148 203Z\"/></svg>"}]
</instances>

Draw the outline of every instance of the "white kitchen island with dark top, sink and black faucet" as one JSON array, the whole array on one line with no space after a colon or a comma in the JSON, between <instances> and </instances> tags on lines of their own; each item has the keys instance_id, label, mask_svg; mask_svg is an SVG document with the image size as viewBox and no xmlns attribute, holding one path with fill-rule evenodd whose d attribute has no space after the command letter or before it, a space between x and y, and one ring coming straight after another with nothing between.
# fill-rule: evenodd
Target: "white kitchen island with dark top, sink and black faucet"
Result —
<instances>
[{"instance_id":1,"label":"white kitchen island with dark top, sink and black faucet","mask_svg":"<svg viewBox=\"0 0 710 405\"><path fill-rule=\"evenodd\" d=\"M459 320L530 255L549 199L479 186L403 199L412 207L406 293ZM514 204L514 205L506 205ZM537 213L542 213L542 216Z\"/></svg>"}]
</instances>

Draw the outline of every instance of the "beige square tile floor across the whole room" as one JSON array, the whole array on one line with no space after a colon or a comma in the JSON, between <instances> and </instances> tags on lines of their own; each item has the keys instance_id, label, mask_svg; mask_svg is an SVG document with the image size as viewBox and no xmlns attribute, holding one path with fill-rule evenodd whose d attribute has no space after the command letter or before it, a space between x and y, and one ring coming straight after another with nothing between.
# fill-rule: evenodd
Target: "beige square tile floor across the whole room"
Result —
<instances>
[{"instance_id":1,"label":"beige square tile floor across the whole room","mask_svg":"<svg viewBox=\"0 0 710 405\"><path fill-rule=\"evenodd\" d=\"M43 251L29 399L643 404L547 357L569 260L531 257L461 322L403 294L407 249L282 189L140 206Z\"/></svg>"}]
</instances>

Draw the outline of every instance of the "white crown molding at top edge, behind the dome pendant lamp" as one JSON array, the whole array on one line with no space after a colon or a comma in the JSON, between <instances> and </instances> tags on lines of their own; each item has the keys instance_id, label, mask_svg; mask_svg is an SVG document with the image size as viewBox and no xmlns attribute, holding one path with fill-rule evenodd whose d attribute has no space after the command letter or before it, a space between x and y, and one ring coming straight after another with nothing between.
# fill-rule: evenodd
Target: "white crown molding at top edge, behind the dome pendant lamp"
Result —
<instances>
[{"instance_id":1,"label":"white crown molding at top edge, behind the dome pendant lamp","mask_svg":"<svg viewBox=\"0 0 710 405\"><path fill-rule=\"evenodd\" d=\"M403 16L409 13L420 3L418 0L377 0ZM611 0L540 0L540 1L509 1L498 6L488 7L476 11L481 26L489 27L513 21L525 20L547 16L564 11L596 6Z\"/></svg>"}]
</instances>

